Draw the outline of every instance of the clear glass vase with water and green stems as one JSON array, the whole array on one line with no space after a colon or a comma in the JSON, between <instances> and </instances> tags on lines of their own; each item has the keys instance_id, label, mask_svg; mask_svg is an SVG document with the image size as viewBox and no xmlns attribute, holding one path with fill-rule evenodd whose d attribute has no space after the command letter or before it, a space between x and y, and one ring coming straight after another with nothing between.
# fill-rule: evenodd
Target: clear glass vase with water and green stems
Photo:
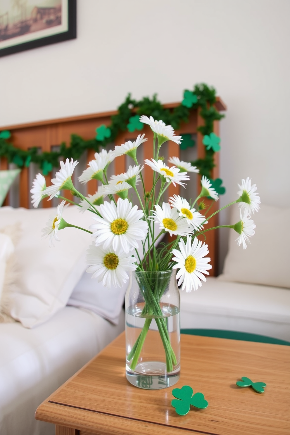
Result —
<instances>
[{"instance_id":1,"label":"clear glass vase with water and green stems","mask_svg":"<svg viewBox=\"0 0 290 435\"><path fill-rule=\"evenodd\" d=\"M176 271L133 271L125 297L126 378L160 389L180 377L180 294Z\"/></svg>"}]
</instances>

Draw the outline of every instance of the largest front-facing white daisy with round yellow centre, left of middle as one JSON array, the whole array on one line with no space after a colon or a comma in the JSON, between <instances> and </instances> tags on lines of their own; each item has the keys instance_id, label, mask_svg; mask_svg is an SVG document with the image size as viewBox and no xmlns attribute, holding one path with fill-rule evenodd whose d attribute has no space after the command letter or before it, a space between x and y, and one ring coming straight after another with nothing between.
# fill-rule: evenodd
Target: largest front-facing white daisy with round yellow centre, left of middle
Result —
<instances>
[{"instance_id":1,"label":"largest front-facing white daisy with round yellow centre, left of middle","mask_svg":"<svg viewBox=\"0 0 290 435\"><path fill-rule=\"evenodd\" d=\"M96 246L104 249L113 246L114 251L120 248L128 253L130 249L138 248L138 240L144 240L148 232L148 224L143 221L143 211L137 205L132 206L128 199L119 198L117 206L113 201L105 201L100 205L100 216L93 216L97 221L90 226Z\"/></svg>"}]
</instances>

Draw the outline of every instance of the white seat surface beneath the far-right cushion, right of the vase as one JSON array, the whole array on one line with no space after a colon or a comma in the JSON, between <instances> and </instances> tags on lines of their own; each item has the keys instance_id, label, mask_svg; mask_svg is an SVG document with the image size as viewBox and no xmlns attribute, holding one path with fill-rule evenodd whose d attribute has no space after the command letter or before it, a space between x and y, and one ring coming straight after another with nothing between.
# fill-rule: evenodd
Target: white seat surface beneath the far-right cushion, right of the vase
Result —
<instances>
[{"instance_id":1,"label":"white seat surface beneath the far-right cushion, right of the vase","mask_svg":"<svg viewBox=\"0 0 290 435\"><path fill-rule=\"evenodd\" d=\"M190 293L180 291L184 329L222 329L290 341L290 289L207 278Z\"/></svg>"}]
</instances>

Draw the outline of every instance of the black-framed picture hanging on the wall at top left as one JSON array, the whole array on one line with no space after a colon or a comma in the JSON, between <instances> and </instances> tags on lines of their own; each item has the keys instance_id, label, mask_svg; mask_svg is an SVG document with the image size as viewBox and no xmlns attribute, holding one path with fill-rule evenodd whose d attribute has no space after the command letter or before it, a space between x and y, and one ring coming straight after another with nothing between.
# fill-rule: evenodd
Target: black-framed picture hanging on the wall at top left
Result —
<instances>
[{"instance_id":1,"label":"black-framed picture hanging on the wall at top left","mask_svg":"<svg viewBox=\"0 0 290 435\"><path fill-rule=\"evenodd\" d=\"M77 37L77 0L0 0L0 57Z\"/></svg>"}]
</instances>

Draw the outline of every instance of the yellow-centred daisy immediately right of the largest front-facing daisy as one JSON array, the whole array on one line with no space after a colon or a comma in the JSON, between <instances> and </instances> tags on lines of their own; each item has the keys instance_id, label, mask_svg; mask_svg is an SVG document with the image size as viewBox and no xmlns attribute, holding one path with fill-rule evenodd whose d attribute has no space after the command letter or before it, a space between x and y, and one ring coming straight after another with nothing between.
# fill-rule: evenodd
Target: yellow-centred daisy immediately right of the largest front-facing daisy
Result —
<instances>
[{"instance_id":1,"label":"yellow-centred daisy immediately right of the largest front-facing daisy","mask_svg":"<svg viewBox=\"0 0 290 435\"><path fill-rule=\"evenodd\" d=\"M179 216L175 208L171 208L168 202L163 202L162 208L160 205L155 205L156 211L153 211L155 222L159 223L160 230L168 231L170 236L180 235L186 236L193 234L193 229L187 220Z\"/></svg>"}]
</instances>

